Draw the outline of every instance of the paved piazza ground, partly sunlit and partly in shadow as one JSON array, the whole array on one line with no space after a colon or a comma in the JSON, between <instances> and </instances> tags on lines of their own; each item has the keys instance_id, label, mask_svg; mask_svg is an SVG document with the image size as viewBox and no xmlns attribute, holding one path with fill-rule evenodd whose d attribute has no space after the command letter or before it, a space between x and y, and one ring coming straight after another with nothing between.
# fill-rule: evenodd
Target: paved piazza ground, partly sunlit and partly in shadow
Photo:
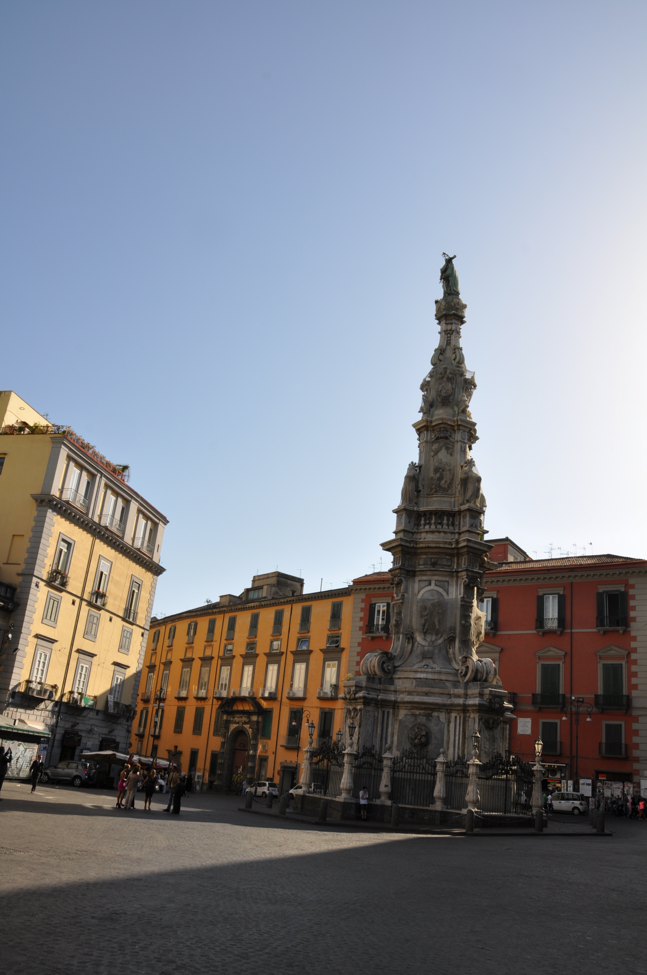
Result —
<instances>
[{"instance_id":1,"label":"paved piazza ground, partly sunlit and partly in shadow","mask_svg":"<svg viewBox=\"0 0 647 975\"><path fill-rule=\"evenodd\" d=\"M647 822L447 838L284 824L229 797L179 817L161 796L150 813L65 786L2 797L6 975L647 972Z\"/></svg>"}]
</instances>

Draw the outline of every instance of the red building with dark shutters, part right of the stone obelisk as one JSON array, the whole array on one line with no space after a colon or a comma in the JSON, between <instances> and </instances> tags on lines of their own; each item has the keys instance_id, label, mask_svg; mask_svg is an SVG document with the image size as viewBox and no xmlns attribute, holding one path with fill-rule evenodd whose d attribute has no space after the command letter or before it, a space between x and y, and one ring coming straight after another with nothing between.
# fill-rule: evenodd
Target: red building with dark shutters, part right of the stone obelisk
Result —
<instances>
[{"instance_id":1,"label":"red building with dark shutters, part right of the stone obelisk","mask_svg":"<svg viewBox=\"0 0 647 975\"><path fill-rule=\"evenodd\" d=\"M516 721L511 751L534 757L544 742L552 779L637 782L635 588L647 561L615 555L528 559L494 539L481 608L483 656L499 666Z\"/></svg>"}]
</instances>

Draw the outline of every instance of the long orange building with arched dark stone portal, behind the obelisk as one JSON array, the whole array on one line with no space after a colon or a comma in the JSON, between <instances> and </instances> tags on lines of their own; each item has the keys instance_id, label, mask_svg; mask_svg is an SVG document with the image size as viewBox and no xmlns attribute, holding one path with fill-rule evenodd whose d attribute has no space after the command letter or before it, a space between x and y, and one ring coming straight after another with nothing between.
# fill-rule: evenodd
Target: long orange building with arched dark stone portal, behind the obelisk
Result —
<instances>
[{"instance_id":1,"label":"long orange building with arched dark stone portal, behind the obelisk","mask_svg":"<svg viewBox=\"0 0 647 975\"><path fill-rule=\"evenodd\" d=\"M351 588L303 594L303 579L255 575L240 596L151 621L133 739L204 787L298 781L308 744L341 728ZM209 784L209 786L208 786Z\"/></svg>"}]
</instances>

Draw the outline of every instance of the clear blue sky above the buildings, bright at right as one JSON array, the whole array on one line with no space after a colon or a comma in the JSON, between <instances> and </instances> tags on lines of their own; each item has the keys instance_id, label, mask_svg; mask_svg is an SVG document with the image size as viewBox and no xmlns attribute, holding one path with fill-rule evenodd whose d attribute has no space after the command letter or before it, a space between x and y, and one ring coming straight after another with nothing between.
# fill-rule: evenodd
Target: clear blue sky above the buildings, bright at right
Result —
<instances>
[{"instance_id":1,"label":"clear blue sky above the buildings, bright at right","mask_svg":"<svg viewBox=\"0 0 647 975\"><path fill-rule=\"evenodd\" d=\"M647 556L644 3L0 18L0 388L169 517L157 612L379 565L442 251L491 536Z\"/></svg>"}]
</instances>

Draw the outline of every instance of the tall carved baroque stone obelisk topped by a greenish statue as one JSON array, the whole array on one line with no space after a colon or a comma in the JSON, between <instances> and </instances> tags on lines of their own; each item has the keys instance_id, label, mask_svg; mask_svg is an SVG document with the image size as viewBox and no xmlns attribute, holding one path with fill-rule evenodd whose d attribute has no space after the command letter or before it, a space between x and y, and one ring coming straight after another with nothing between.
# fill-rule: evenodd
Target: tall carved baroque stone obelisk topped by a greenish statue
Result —
<instances>
[{"instance_id":1,"label":"tall carved baroque stone obelisk topped by a greenish statue","mask_svg":"<svg viewBox=\"0 0 647 975\"><path fill-rule=\"evenodd\" d=\"M362 708L361 744L384 745L386 725L394 751L424 748L433 759L444 748L449 759L469 758L478 730L481 758L488 758L507 747L512 709L504 703L494 663L476 653L490 546L472 456L476 381L461 347L467 305L454 257L443 257L438 347L420 387L421 417L413 424L418 461L404 477L394 538L382 544L393 555L392 648L368 653L362 677L345 689L348 706Z\"/></svg>"}]
</instances>

